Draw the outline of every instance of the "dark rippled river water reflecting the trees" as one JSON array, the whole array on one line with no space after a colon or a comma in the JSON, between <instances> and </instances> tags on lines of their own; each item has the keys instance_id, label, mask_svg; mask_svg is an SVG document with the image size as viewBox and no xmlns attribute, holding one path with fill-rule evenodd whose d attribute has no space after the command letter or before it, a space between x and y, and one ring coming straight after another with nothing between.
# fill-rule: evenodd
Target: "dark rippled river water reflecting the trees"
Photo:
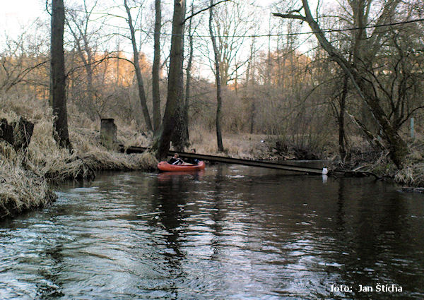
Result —
<instances>
[{"instance_id":1,"label":"dark rippled river water reflecting the trees","mask_svg":"<svg viewBox=\"0 0 424 300\"><path fill-rule=\"evenodd\" d=\"M424 196L391 184L218 165L58 195L0 222L0 299L424 299Z\"/></svg>"}]
</instances>

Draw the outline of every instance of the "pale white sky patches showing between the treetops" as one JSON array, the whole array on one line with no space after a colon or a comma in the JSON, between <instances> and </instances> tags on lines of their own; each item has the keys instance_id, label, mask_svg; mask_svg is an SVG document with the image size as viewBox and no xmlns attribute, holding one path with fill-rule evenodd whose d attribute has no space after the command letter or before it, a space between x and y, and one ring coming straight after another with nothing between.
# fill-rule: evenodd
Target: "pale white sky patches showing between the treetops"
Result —
<instances>
[{"instance_id":1,"label":"pale white sky patches showing between the treetops","mask_svg":"<svg viewBox=\"0 0 424 300\"><path fill-rule=\"evenodd\" d=\"M51 0L47 0L48 4L50 4ZM15 0L15 1L9 1L9 0L1 0L2 7L0 11L0 51L4 49L4 41L6 40L6 37L8 40L18 40L20 35L22 35L23 32L27 32L28 34L32 34L35 32L35 30L39 30L40 24L42 24L43 27L45 27L45 32L48 34L49 32L49 23L50 18L46 11L46 0ZM117 8L110 8L113 6L117 6L117 4L121 3L122 0L102 0L98 1L98 8L96 7L96 13L98 13L96 18L100 16L102 13L110 13L110 11L113 11L113 14L122 15L122 11L119 11ZM153 31L153 28L148 28L150 23L153 23L154 16L153 12L149 12L151 10L151 2L153 1L146 1L145 9L146 16L143 16L143 30L147 31ZM271 3L275 1L273 0L258 0L258 1L252 1L252 0L246 0L241 1L240 3L246 4L246 8L248 12L252 12L252 14L249 14L247 16L247 20L252 23L258 23L259 27L252 31L247 32L247 35L264 35L262 37L258 37L255 41L255 44L257 47L257 50L262 52L267 52L268 49L268 37L266 35L269 34L269 22L271 20L272 23L279 22L278 18L272 17L271 12L275 11L275 9L271 9L269 6ZM313 3L314 1L312 1ZM68 5L69 7L76 7L76 5L82 4L82 0L65 0L65 6ZM88 4L90 5L91 1L88 1ZM110 4L109 4L110 3ZM187 0L188 5L191 3L191 0ZM195 4L204 4L205 1L195 1ZM253 3L253 4L252 4ZM220 4L220 6L227 5L227 4ZM163 9L167 11L169 14L172 11L172 1L163 1ZM110 8L110 9L109 9ZM189 11L189 8L187 8L187 11ZM172 13L172 12L171 12ZM188 13L188 12L187 12ZM203 13L205 14L205 13ZM206 13L207 15L207 13ZM205 15L205 16L206 16ZM136 9L134 9L134 16L136 16ZM170 15L172 16L172 15ZM167 16L167 18L170 18L170 16ZM199 18L201 15L197 16L196 18ZM149 18L152 18L152 20L149 20ZM166 18L166 17L165 17ZM164 18L164 19L165 19ZM37 20L37 22L35 22ZM206 22L205 20L202 22ZM37 23L37 24L36 24ZM94 26L100 26L101 20L95 20L93 22ZM119 31L120 34L126 31L126 23L124 22L123 18L114 18L109 17L107 19L106 25L103 26L102 32L106 35L111 35L114 33L117 33ZM281 32L281 28L274 28L271 30L273 34L281 34L281 33L287 33L285 30ZM306 25L300 25L298 30L307 30ZM65 29L65 32L69 31ZM43 30L44 32L44 30ZM170 26L163 27L163 38L169 40L170 34ZM199 43L208 43L208 31L204 28L199 27L198 31L196 32L197 35L201 35L202 37L196 37L195 39L198 40ZM153 61L153 35L151 33L146 33L146 35L151 35L146 41L146 44L143 45L141 52L146 54L149 61ZM139 40L140 35L137 36L137 39ZM307 52L308 49L310 49L310 41L313 40L313 38L309 38L307 42L303 42L305 39L308 39L308 35L301 35L299 39L300 52ZM116 42L117 37L107 37L107 39L101 43L102 49L98 49L100 51L114 51L116 49ZM129 40L120 38L121 42L119 43L120 49L126 52L126 55L131 56L131 44L129 43ZM202 41L203 40L203 41ZM252 43L252 38L247 37L245 38L244 46L242 47L242 51L240 52L240 61L245 60L249 53L249 44ZM272 43L276 40L275 37L272 38L271 41L271 47ZM169 44L163 47L163 51L166 53L167 47L169 47ZM201 73L209 73L208 71L208 59L206 57L201 57L202 54L198 53L199 59L197 60L199 63L198 68L201 69ZM246 57L244 57L246 56Z\"/></svg>"}]
</instances>

